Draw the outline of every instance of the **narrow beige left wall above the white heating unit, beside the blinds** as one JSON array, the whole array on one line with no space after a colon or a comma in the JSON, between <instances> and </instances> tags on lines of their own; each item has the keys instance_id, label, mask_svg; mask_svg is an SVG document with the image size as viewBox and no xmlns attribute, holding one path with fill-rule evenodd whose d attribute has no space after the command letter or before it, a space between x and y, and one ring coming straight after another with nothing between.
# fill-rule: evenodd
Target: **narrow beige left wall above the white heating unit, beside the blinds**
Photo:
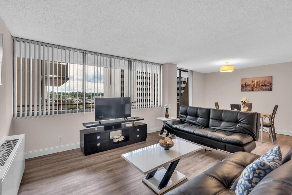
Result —
<instances>
[{"instance_id":1,"label":"narrow beige left wall above the white heating unit, beside the blinds","mask_svg":"<svg viewBox=\"0 0 292 195\"><path fill-rule=\"evenodd\" d=\"M2 85L0 85L0 140L12 132L13 116L13 74L12 37L0 18L0 32L3 34ZM1 55L1 54L0 54Z\"/></svg>"}]
</instances>

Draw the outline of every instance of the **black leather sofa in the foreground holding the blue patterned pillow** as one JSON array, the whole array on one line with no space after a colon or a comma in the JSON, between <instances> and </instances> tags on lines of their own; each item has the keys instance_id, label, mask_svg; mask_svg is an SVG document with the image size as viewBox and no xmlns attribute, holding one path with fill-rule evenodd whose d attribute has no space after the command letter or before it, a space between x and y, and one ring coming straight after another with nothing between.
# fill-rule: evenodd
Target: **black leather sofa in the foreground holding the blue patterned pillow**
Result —
<instances>
[{"instance_id":1,"label":"black leather sofa in the foreground holding the blue patterned pillow","mask_svg":"<svg viewBox=\"0 0 292 195\"><path fill-rule=\"evenodd\" d=\"M241 172L260 156L236 152L223 161L193 177L167 195L234 195ZM266 175L249 195L292 194L292 149L283 158L283 164Z\"/></svg>"}]
</instances>

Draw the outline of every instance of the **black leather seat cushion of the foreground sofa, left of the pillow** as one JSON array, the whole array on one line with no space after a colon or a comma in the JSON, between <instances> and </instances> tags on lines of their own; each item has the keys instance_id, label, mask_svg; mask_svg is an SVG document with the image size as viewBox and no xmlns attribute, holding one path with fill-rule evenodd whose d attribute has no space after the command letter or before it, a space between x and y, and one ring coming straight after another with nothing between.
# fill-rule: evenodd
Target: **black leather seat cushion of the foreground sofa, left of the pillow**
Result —
<instances>
[{"instance_id":1,"label":"black leather seat cushion of the foreground sofa, left of the pillow","mask_svg":"<svg viewBox=\"0 0 292 195\"><path fill-rule=\"evenodd\" d=\"M241 172L258 157L252 153L236 152L166 194L235 194L234 190Z\"/></svg>"}]
</instances>

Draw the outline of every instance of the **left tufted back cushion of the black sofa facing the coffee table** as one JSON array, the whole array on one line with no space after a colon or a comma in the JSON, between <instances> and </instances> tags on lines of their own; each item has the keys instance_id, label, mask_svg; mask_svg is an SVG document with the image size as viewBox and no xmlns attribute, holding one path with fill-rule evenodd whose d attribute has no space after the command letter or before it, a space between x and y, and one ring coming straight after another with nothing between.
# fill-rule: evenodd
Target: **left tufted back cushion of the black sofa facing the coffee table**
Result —
<instances>
[{"instance_id":1,"label":"left tufted back cushion of the black sofa facing the coffee table","mask_svg":"<svg viewBox=\"0 0 292 195\"><path fill-rule=\"evenodd\" d=\"M186 123L208 127L210 108L180 106L180 113L178 118L185 121Z\"/></svg>"}]
</instances>

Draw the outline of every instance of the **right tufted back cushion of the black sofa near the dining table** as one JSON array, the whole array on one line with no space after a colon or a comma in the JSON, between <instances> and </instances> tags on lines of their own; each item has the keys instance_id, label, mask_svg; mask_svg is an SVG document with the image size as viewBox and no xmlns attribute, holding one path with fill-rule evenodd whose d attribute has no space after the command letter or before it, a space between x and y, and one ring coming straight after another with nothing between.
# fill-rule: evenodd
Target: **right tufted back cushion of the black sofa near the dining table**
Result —
<instances>
[{"instance_id":1,"label":"right tufted back cushion of the black sofa near the dining table","mask_svg":"<svg viewBox=\"0 0 292 195\"><path fill-rule=\"evenodd\" d=\"M234 133L250 135L258 140L260 114L256 112L213 109L210 112L209 127Z\"/></svg>"}]
</instances>

